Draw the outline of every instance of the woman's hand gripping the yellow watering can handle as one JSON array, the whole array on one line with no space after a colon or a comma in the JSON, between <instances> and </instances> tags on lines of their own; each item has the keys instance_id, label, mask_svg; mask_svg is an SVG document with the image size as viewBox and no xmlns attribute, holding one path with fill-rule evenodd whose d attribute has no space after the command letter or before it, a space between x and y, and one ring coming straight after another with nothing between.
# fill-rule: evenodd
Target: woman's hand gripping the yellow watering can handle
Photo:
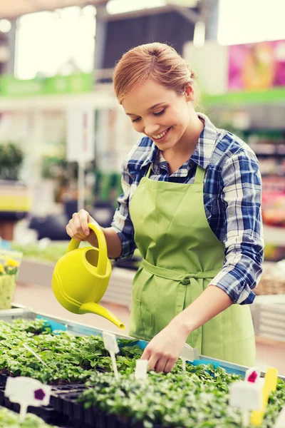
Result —
<instances>
[{"instance_id":1,"label":"woman's hand gripping the yellow watering can handle","mask_svg":"<svg viewBox=\"0 0 285 428\"><path fill-rule=\"evenodd\" d=\"M98 225L93 217L86 210L80 210L79 213L74 213L71 220L69 220L66 226L66 233L73 239L81 242L88 240L90 235L90 229L88 223ZM98 227L100 227L98 225Z\"/></svg>"}]
</instances>

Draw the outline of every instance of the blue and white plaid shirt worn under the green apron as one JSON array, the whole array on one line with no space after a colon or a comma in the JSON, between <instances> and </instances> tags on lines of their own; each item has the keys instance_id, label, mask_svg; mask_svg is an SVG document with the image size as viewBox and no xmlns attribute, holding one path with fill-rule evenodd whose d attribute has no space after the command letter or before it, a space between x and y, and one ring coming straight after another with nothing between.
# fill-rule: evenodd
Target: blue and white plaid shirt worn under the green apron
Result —
<instances>
[{"instance_id":1,"label":"blue and white plaid shirt worn under the green apron","mask_svg":"<svg viewBox=\"0 0 285 428\"><path fill-rule=\"evenodd\" d=\"M122 242L120 258L130 258L136 248L129 203L140 180L152 167L152 180L191 184L197 165L204 176L204 209L209 226L224 244L224 265L212 280L233 302L249 304L261 276L264 241L261 221L261 175L249 146L232 133L217 129L207 116L197 113L204 130L191 158L169 175L168 163L148 137L138 141L123 164L123 194L118 198L112 227Z\"/></svg>"}]
</instances>

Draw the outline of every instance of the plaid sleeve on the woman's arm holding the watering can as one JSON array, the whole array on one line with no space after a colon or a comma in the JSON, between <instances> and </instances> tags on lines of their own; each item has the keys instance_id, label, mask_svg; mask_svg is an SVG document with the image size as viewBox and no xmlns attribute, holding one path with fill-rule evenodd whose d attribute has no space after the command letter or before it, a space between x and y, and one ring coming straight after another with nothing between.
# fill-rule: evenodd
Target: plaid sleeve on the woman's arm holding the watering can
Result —
<instances>
[{"instance_id":1,"label":"plaid sleeve on the woman's arm holding the watering can","mask_svg":"<svg viewBox=\"0 0 285 428\"><path fill-rule=\"evenodd\" d=\"M128 156L129 157L129 156ZM131 258L135 251L136 245L134 240L134 228L130 220L130 195L132 192L133 178L128 171L128 158L123 164L122 188L123 193L118 197L118 208L115 210L111 227L118 233L122 243L122 252L116 260Z\"/></svg>"}]
</instances>

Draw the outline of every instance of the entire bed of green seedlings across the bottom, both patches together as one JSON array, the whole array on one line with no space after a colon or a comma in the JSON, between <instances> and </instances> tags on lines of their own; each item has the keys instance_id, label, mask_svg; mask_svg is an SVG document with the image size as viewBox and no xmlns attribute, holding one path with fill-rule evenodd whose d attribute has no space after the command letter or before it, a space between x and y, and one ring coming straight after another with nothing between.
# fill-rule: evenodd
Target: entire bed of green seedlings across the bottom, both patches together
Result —
<instances>
[{"instance_id":1,"label":"entire bed of green seedlings across the bottom, both patches together","mask_svg":"<svg viewBox=\"0 0 285 428\"><path fill-rule=\"evenodd\" d=\"M138 381L135 361L142 350L130 345L130 340L119 340L117 381L100 336L51 332L44 320L0 322L0 373L30 376L49 384L86 382L78 398L81 405L120 417L128 426L242 427L239 410L229 407L229 384L241 379L239 375L213 365L187 365L187 372L183 372L178 361L171 373L149 372L145 382ZM269 397L262 428L273 427L284 403L285 383L279 379Z\"/></svg>"}]
</instances>

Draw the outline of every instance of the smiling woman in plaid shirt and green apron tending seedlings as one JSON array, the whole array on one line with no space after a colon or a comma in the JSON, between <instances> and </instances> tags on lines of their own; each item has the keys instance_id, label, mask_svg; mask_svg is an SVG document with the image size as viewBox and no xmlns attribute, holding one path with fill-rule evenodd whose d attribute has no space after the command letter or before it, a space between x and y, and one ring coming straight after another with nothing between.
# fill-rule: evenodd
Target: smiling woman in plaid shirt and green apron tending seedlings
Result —
<instances>
[{"instance_id":1,"label":"smiling woman in plaid shirt and green apron tending seedlings","mask_svg":"<svg viewBox=\"0 0 285 428\"><path fill-rule=\"evenodd\" d=\"M125 159L110 258L142 265L133 282L130 335L149 340L142 359L169 372L185 342L209 357L252 366L249 303L261 275L261 177L242 140L196 113L195 75L170 46L138 46L115 66L118 101L145 134ZM71 238L97 245L85 211Z\"/></svg>"}]
</instances>

